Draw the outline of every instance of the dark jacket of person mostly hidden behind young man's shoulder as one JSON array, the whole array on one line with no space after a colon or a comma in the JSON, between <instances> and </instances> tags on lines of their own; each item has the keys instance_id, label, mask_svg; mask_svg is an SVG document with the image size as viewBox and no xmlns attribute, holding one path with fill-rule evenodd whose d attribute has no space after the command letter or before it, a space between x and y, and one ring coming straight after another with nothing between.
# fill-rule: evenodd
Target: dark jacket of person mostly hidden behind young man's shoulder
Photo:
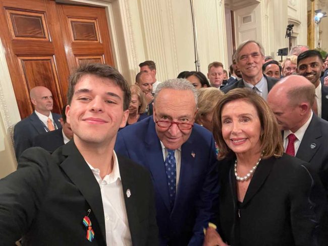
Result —
<instances>
[{"instance_id":1,"label":"dark jacket of person mostly hidden behind young man's shoulder","mask_svg":"<svg viewBox=\"0 0 328 246\"><path fill-rule=\"evenodd\" d=\"M52 153L64 145L63 130L57 129L51 132L42 133L35 136L32 142L33 147L41 147Z\"/></svg>"}]
</instances>

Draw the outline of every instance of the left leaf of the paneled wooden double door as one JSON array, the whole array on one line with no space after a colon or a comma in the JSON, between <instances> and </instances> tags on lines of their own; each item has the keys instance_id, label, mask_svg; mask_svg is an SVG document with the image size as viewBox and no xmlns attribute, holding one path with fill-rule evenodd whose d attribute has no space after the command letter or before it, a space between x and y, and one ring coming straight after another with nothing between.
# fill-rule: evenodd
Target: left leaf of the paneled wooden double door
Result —
<instances>
[{"instance_id":1,"label":"left leaf of the paneled wooden double door","mask_svg":"<svg viewBox=\"0 0 328 246\"><path fill-rule=\"evenodd\" d=\"M53 112L60 113L66 102L69 69L56 3L0 0L0 21L4 24L0 25L0 35L21 118L32 113L29 90L36 85L52 92Z\"/></svg>"}]
</instances>

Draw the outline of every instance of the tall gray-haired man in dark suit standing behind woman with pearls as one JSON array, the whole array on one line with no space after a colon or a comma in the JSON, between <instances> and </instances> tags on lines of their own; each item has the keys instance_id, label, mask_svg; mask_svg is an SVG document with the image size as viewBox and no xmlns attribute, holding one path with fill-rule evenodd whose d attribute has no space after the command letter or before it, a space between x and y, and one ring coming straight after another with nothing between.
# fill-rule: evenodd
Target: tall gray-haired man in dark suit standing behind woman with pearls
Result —
<instances>
[{"instance_id":1,"label":"tall gray-haired man in dark suit standing behind woman with pearls","mask_svg":"<svg viewBox=\"0 0 328 246\"><path fill-rule=\"evenodd\" d=\"M235 88L248 87L266 99L268 92L278 80L262 73L264 64L262 45L254 40L245 41L238 46L234 58L243 78L231 85L228 84L222 91L227 93Z\"/></svg>"}]
</instances>

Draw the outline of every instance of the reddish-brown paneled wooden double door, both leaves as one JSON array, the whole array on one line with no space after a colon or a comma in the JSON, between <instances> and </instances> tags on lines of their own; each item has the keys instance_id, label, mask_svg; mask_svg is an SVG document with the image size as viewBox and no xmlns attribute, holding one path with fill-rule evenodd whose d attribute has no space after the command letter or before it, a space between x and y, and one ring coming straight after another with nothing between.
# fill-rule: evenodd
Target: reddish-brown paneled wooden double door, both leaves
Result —
<instances>
[{"instance_id":1,"label":"reddish-brown paneled wooden double door, both leaves","mask_svg":"<svg viewBox=\"0 0 328 246\"><path fill-rule=\"evenodd\" d=\"M54 0L0 0L0 23L21 118L33 111L31 88L47 87L53 112L60 113L68 77L79 63L114 64L104 9Z\"/></svg>"}]
</instances>

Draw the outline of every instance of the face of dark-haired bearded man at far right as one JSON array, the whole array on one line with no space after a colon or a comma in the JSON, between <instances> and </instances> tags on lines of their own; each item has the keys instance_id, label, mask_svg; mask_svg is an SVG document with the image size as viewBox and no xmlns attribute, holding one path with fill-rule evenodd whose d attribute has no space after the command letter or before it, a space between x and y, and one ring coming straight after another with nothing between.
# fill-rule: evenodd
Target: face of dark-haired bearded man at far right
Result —
<instances>
[{"instance_id":1,"label":"face of dark-haired bearded man at far right","mask_svg":"<svg viewBox=\"0 0 328 246\"><path fill-rule=\"evenodd\" d=\"M299 61L297 72L307 78L315 87L320 83L321 71L324 69L322 59L318 56L310 56Z\"/></svg>"}]
</instances>

